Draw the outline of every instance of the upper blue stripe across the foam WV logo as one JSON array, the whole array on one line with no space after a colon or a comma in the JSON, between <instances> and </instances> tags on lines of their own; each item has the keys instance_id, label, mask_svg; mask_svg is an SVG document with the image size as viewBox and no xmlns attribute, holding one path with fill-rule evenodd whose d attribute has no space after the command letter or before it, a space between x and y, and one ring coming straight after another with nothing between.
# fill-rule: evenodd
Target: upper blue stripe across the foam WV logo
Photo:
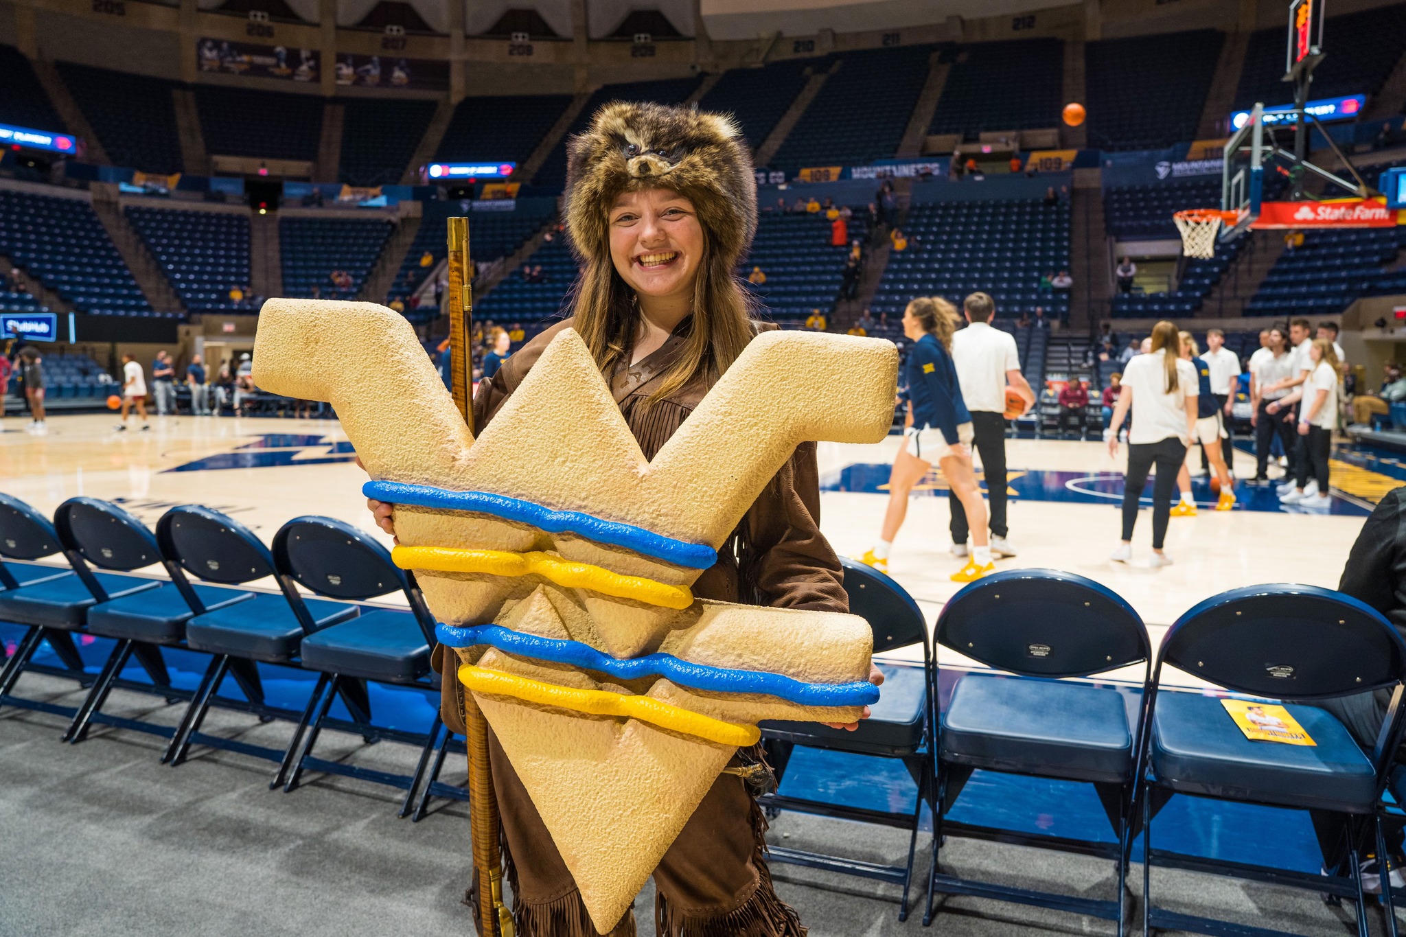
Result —
<instances>
[{"instance_id":1,"label":"upper blue stripe across the foam WV logo","mask_svg":"<svg viewBox=\"0 0 1406 937\"><path fill-rule=\"evenodd\" d=\"M551 534L578 534L612 546L624 546L645 556L654 556L689 569L707 569L717 562L717 553L707 544L688 544L647 531L643 527L605 521L581 511L554 511L541 504L523 502L488 492L450 492L429 485L402 485L401 482L367 482L361 493L378 502L411 504L412 507L439 507L451 511L478 511L509 521L540 527Z\"/></svg>"}]
</instances>

